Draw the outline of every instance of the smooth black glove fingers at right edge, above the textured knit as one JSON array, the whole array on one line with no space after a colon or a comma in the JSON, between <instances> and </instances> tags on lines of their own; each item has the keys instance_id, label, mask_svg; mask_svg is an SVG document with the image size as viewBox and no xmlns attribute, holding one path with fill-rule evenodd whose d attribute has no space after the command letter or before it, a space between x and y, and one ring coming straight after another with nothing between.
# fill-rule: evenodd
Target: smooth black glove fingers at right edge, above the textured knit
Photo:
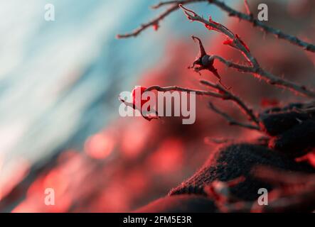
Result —
<instances>
[{"instance_id":1,"label":"smooth black glove fingers at right edge, above the textured knit","mask_svg":"<svg viewBox=\"0 0 315 227\"><path fill-rule=\"evenodd\" d=\"M308 109L308 110L307 110ZM300 157L315 148L315 110L304 104L290 104L260 115L260 125L271 135L269 148L290 157Z\"/></svg>"}]
</instances>

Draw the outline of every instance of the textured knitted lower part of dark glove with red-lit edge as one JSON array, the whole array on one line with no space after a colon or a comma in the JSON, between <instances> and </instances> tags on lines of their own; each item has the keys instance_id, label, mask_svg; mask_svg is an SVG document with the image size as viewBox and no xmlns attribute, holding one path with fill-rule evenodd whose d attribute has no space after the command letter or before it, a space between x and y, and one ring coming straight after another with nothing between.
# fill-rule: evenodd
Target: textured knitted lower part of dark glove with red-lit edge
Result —
<instances>
[{"instance_id":1,"label":"textured knitted lower part of dark glove with red-lit edge","mask_svg":"<svg viewBox=\"0 0 315 227\"><path fill-rule=\"evenodd\" d=\"M269 150L261 145L230 145L216 151L201 170L178 187L171 189L169 195L205 194L203 187L215 180L227 182L244 176L245 181L232 187L231 193L238 199L253 201L260 196L257 194L258 189L266 188L268 191L273 189L271 184L252 177L250 172L257 165L274 167L279 170L315 172L311 166L294 162L287 155Z\"/></svg>"}]
</instances>

